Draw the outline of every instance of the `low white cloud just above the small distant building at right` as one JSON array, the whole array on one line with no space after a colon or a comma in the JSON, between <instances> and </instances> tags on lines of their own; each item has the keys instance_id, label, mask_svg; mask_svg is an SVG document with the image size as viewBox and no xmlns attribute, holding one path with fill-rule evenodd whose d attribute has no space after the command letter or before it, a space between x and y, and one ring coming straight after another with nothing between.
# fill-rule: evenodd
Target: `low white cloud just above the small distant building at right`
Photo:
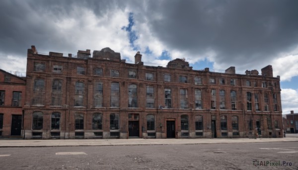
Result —
<instances>
[{"instance_id":1,"label":"low white cloud just above the small distant building at right","mask_svg":"<svg viewBox=\"0 0 298 170\"><path fill-rule=\"evenodd\" d=\"M298 112L298 89L282 89L282 109L283 114L289 114L290 111Z\"/></svg>"}]
</instances>

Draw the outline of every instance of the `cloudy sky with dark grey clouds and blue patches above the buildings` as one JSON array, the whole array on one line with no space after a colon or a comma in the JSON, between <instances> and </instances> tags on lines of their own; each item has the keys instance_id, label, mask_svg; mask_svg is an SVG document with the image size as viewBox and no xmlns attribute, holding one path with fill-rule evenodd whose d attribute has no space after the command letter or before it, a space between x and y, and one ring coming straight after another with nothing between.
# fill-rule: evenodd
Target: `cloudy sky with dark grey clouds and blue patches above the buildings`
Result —
<instances>
[{"instance_id":1,"label":"cloudy sky with dark grey clouds and blue patches above the buildings","mask_svg":"<svg viewBox=\"0 0 298 170\"><path fill-rule=\"evenodd\" d=\"M298 113L298 0L0 0L0 68L25 71L27 49L110 47L133 61L236 72L272 65L283 113Z\"/></svg>"}]
</instances>

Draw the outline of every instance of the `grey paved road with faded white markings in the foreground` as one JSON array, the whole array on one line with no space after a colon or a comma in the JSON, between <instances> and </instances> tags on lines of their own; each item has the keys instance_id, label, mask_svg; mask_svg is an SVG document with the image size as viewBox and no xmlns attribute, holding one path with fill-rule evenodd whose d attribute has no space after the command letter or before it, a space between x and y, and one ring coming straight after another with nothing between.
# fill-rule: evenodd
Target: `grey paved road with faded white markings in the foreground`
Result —
<instances>
[{"instance_id":1,"label":"grey paved road with faded white markings in the foreground","mask_svg":"<svg viewBox=\"0 0 298 170\"><path fill-rule=\"evenodd\" d=\"M298 142L10 147L0 148L0 169L298 170L297 158Z\"/></svg>"}]
</instances>

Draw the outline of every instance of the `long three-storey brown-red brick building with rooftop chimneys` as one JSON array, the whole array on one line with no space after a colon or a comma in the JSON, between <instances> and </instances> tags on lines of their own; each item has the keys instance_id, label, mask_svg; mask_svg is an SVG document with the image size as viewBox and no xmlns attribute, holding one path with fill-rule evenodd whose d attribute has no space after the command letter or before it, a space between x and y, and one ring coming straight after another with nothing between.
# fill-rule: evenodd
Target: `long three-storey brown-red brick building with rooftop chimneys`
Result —
<instances>
[{"instance_id":1,"label":"long three-storey brown-red brick building with rooftop chimneys","mask_svg":"<svg viewBox=\"0 0 298 170\"><path fill-rule=\"evenodd\" d=\"M184 59L147 66L109 48L77 56L28 49L24 138L283 137L272 66L236 74Z\"/></svg>"}]
</instances>

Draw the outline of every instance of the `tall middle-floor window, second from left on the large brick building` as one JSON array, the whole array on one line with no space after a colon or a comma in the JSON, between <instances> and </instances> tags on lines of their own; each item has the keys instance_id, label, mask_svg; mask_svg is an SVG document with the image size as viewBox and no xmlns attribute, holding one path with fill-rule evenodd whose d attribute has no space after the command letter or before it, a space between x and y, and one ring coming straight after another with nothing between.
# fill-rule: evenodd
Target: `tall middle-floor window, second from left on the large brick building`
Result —
<instances>
[{"instance_id":1,"label":"tall middle-floor window, second from left on the large brick building","mask_svg":"<svg viewBox=\"0 0 298 170\"><path fill-rule=\"evenodd\" d=\"M54 79L52 83L52 106L62 105L62 82L63 80Z\"/></svg>"}]
</instances>

